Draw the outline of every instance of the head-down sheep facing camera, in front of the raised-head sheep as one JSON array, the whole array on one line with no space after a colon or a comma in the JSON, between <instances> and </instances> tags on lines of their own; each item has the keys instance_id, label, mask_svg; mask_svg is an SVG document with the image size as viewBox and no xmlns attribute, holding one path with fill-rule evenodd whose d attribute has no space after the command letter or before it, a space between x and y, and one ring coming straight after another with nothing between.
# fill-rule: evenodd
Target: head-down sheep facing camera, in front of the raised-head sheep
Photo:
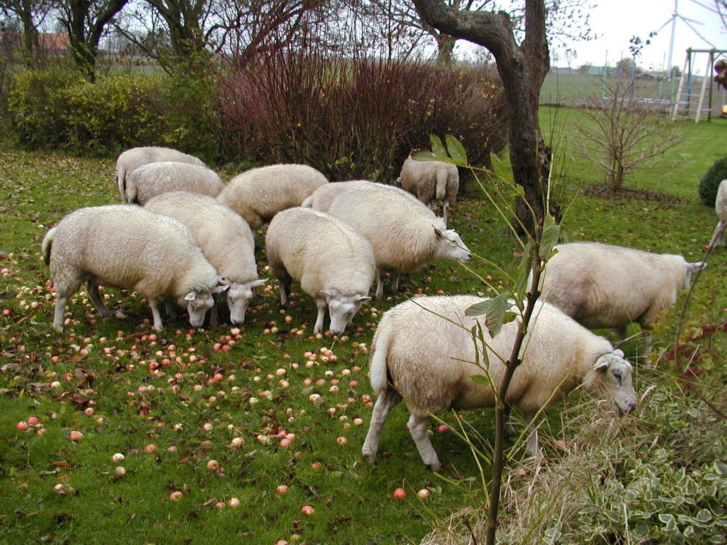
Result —
<instances>
[{"instance_id":1,"label":"head-down sheep facing camera, in front of the raised-head sheep","mask_svg":"<svg viewBox=\"0 0 727 545\"><path fill-rule=\"evenodd\" d=\"M293 279L316 299L314 334L324 331L326 306L331 333L340 335L361 304L371 299L374 253L366 238L343 219L300 207L281 211L270 221L265 249L278 278L281 304Z\"/></svg>"}]
</instances>

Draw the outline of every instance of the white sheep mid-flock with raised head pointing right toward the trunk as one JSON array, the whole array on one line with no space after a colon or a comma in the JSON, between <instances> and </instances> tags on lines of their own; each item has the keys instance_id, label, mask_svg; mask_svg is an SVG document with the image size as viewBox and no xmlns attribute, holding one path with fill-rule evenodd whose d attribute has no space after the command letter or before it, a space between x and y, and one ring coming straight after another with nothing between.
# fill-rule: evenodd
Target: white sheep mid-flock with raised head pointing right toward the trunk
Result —
<instances>
[{"instance_id":1,"label":"white sheep mid-flock with raised head pointing right toward the trunk","mask_svg":"<svg viewBox=\"0 0 727 545\"><path fill-rule=\"evenodd\" d=\"M350 187L329 207L331 214L348 219L369 239L376 258L376 297L384 294L383 275L393 270L392 290L401 273L440 259L467 263L470 250L454 230L433 211L387 187Z\"/></svg>"}]
</instances>

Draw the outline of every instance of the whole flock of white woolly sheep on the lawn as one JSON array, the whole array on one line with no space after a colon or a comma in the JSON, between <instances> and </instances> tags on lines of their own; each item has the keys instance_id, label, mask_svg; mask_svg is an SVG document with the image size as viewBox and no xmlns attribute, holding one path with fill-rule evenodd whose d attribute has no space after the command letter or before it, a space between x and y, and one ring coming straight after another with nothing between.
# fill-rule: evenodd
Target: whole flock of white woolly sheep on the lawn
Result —
<instances>
[{"instance_id":1,"label":"whole flock of white woolly sheep on the lawn","mask_svg":"<svg viewBox=\"0 0 727 545\"><path fill-rule=\"evenodd\" d=\"M459 235L446 228L459 188L457 168L410 157L400 179L403 190L364 180L330 183L310 166L273 165L244 171L225 184L185 153L127 150L116 163L123 203L73 211L44 238L57 294L53 327L63 331L68 299L84 282L104 316L110 312L98 286L134 289L148 299L157 330L163 328L161 300L173 311L169 299L186 308L192 326L201 326L210 310L215 325L216 293L230 321L242 323L253 289L268 280L257 276L254 233L269 222L265 250L281 304L296 280L316 301L314 334L324 331L327 309L329 329L340 335L371 299L374 280L375 296L383 296L386 270L393 273L396 291L401 273L440 259L466 263L472 257ZM443 218L430 209L434 199L443 201ZM633 322L648 331L656 313L672 305L691 274L704 267L680 256L599 243L556 248L541 275L543 301L505 400L508 416L516 405L530 423L526 451L533 455L534 416L576 387L608 397L617 410L635 408L631 364L587 328L616 328L623 336ZM370 379L378 399L364 456L375 455L382 425L403 398L422 461L440 469L427 435L428 415L494 404L492 387L470 376L486 374L499 383L518 323L506 323L494 338L483 328L484 345L475 345L471 329L482 318L465 310L481 300L422 297L384 313L371 343ZM486 368L473 365L478 355L486 355ZM513 432L512 426L507 430Z\"/></svg>"}]
</instances>

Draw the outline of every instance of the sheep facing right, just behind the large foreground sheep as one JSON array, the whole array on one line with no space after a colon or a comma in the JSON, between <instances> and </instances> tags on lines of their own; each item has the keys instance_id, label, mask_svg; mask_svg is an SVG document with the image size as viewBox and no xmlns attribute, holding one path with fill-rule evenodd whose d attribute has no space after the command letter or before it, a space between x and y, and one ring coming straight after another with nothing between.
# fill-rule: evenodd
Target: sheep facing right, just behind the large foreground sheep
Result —
<instances>
[{"instance_id":1,"label":"sheep facing right, just behind the large foreground sheep","mask_svg":"<svg viewBox=\"0 0 727 545\"><path fill-rule=\"evenodd\" d=\"M619 339L632 322L648 331L656 314L689 287L691 273L707 266L687 263L679 255L597 242L558 244L555 249L558 253L540 276L543 299L587 328L616 328ZM647 333L647 352L650 344Z\"/></svg>"}]
</instances>

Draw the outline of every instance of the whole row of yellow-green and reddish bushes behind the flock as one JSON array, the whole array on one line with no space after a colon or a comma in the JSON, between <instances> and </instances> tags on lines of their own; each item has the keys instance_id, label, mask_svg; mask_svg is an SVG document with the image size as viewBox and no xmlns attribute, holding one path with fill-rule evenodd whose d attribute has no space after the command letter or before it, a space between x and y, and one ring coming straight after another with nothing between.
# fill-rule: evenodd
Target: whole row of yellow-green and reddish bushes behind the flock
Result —
<instances>
[{"instance_id":1,"label":"whole row of yellow-green and reddish bushes behind the flock","mask_svg":"<svg viewBox=\"0 0 727 545\"><path fill-rule=\"evenodd\" d=\"M20 70L9 92L12 133L27 149L113 157L169 145L220 166L308 163L332 180L393 179L430 134L454 134L473 164L486 163L505 147L504 108L492 69L305 51L95 82L56 65Z\"/></svg>"}]
</instances>

